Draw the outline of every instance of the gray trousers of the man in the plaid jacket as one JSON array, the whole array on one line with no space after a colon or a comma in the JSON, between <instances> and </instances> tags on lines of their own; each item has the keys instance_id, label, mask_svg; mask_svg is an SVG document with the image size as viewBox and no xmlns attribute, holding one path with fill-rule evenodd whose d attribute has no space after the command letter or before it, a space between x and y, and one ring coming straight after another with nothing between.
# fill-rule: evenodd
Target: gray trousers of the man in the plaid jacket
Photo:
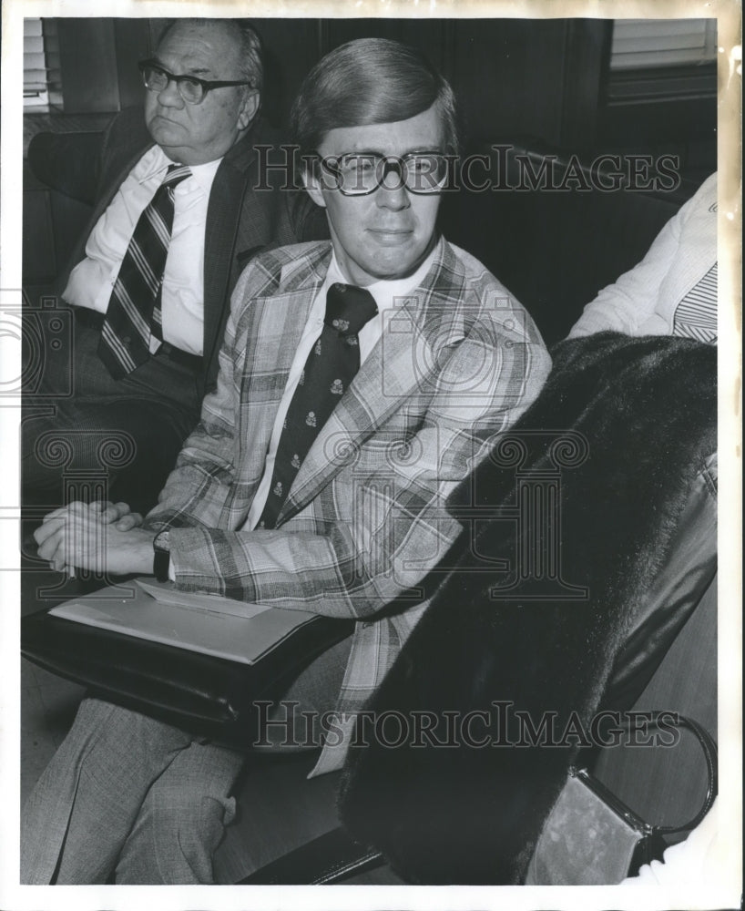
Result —
<instances>
[{"instance_id":1,"label":"gray trousers of the man in the plaid jacket","mask_svg":"<svg viewBox=\"0 0 745 911\"><path fill-rule=\"evenodd\" d=\"M291 684L284 698L294 712L332 710L350 646L324 652ZM245 761L138 712L84 700L24 808L21 883L214 882L212 856L235 814L231 791Z\"/></svg>"}]
</instances>

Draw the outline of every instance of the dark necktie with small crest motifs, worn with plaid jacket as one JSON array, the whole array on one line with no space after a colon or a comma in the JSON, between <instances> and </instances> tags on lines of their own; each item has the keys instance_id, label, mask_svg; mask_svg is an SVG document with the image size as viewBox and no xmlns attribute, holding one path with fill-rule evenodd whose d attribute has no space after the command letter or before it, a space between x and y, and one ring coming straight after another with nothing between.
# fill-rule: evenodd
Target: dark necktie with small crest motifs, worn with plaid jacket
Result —
<instances>
[{"instance_id":1,"label":"dark necktie with small crest motifs, worn with plaid jacket","mask_svg":"<svg viewBox=\"0 0 745 911\"><path fill-rule=\"evenodd\" d=\"M373 295L363 288L340 282L329 288L323 329L308 355L287 411L258 527L275 527L313 440L360 369L357 336L377 312Z\"/></svg>"}]
</instances>

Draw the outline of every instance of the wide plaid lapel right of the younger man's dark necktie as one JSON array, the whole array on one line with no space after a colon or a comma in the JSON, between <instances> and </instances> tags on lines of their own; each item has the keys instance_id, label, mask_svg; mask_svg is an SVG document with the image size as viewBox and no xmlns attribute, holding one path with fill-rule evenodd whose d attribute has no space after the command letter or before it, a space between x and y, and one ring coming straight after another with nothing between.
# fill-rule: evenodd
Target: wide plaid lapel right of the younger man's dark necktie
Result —
<instances>
[{"instance_id":1,"label":"wide plaid lapel right of the younger man's dark necktie","mask_svg":"<svg viewBox=\"0 0 745 911\"><path fill-rule=\"evenodd\" d=\"M311 502L348 464L355 448L372 435L414 394L434 389L440 344L463 338L458 273L454 254L444 241L432 268L401 306L384 314L383 335L359 374L321 429L302 463L282 507L284 522ZM454 296L455 292L455 296Z\"/></svg>"}]
</instances>

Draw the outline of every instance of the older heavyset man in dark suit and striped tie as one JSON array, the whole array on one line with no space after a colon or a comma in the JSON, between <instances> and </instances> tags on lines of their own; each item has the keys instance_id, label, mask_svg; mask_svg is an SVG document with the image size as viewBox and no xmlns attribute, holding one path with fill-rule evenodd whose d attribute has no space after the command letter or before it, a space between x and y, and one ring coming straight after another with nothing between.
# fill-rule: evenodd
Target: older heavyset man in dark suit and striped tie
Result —
<instances>
[{"instance_id":1,"label":"older heavyset man in dark suit and striped tie","mask_svg":"<svg viewBox=\"0 0 745 911\"><path fill-rule=\"evenodd\" d=\"M63 502L60 447L80 477L101 475L109 445L121 456L107 466L112 496L151 507L215 384L241 269L302 239L291 194L254 189L254 144L273 139L258 119L255 31L237 19L177 20L139 68L144 118L140 108L115 118L89 169L93 179L100 168L98 203L62 292L74 351L46 364L26 413L27 505Z\"/></svg>"}]
</instances>

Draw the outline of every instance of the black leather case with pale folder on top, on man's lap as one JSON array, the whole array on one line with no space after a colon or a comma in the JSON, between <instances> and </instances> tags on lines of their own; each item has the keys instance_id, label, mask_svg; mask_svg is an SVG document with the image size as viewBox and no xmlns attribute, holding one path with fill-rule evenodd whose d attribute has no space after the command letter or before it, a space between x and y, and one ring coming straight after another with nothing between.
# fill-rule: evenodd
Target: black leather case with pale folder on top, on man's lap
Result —
<instances>
[{"instance_id":1,"label":"black leather case with pale folder on top, on man's lap","mask_svg":"<svg viewBox=\"0 0 745 911\"><path fill-rule=\"evenodd\" d=\"M353 625L135 579L29 614L21 653L93 695L242 747L253 702L281 698Z\"/></svg>"}]
</instances>

